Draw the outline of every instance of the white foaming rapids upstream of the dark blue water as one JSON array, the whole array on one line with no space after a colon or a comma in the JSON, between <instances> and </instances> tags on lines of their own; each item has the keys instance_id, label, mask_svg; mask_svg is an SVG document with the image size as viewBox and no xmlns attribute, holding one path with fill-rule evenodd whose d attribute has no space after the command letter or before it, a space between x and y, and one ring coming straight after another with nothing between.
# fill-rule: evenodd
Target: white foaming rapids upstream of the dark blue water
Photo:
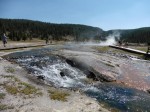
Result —
<instances>
[{"instance_id":1,"label":"white foaming rapids upstream of the dark blue water","mask_svg":"<svg viewBox=\"0 0 150 112\"><path fill-rule=\"evenodd\" d=\"M56 87L84 87L81 82L85 79L82 71L71 67L63 59L57 56L28 57L26 59L17 59L18 63L27 67L27 69L36 76L44 75L49 83ZM65 76L61 76L61 72Z\"/></svg>"}]
</instances>

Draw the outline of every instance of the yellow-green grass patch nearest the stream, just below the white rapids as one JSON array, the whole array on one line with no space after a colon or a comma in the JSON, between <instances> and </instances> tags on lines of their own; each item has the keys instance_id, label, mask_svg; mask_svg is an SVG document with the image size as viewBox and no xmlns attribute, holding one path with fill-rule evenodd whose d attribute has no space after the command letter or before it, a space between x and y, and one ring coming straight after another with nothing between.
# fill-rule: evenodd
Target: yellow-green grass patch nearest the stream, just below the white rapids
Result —
<instances>
[{"instance_id":1,"label":"yellow-green grass patch nearest the stream, just below the white rapids","mask_svg":"<svg viewBox=\"0 0 150 112\"><path fill-rule=\"evenodd\" d=\"M49 96L52 100L67 101L67 96L69 93L58 91L58 90L48 90Z\"/></svg>"}]
</instances>

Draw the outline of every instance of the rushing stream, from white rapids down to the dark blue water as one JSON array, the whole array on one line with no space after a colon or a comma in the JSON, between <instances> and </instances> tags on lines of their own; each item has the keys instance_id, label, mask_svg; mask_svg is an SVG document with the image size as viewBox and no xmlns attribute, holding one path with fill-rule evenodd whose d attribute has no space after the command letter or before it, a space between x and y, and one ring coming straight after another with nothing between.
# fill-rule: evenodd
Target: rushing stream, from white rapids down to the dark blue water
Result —
<instances>
[{"instance_id":1,"label":"rushing stream, from white rapids down to the dark blue water","mask_svg":"<svg viewBox=\"0 0 150 112\"><path fill-rule=\"evenodd\" d=\"M108 107L128 112L150 110L149 94L115 83L90 84L86 74L68 65L63 58L49 54L51 51L52 49L38 49L13 53L6 57L26 67L34 75L44 75L55 87L81 89Z\"/></svg>"}]
</instances>

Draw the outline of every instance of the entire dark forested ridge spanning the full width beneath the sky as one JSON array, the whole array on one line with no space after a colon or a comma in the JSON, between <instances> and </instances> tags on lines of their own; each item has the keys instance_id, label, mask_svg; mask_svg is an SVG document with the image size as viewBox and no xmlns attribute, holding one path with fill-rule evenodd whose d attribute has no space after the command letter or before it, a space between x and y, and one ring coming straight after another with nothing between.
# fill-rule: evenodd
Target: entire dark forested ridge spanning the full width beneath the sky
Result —
<instances>
[{"instance_id":1,"label":"entire dark forested ridge spanning the full width beneath the sky","mask_svg":"<svg viewBox=\"0 0 150 112\"><path fill-rule=\"evenodd\" d=\"M0 34L14 41L32 38L63 41L106 40L108 35L117 32L120 40L130 43L150 43L150 27L138 29L117 29L104 31L98 27L81 24L56 24L25 19L0 19ZM115 36L115 35L114 35Z\"/></svg>"}]
</instances>

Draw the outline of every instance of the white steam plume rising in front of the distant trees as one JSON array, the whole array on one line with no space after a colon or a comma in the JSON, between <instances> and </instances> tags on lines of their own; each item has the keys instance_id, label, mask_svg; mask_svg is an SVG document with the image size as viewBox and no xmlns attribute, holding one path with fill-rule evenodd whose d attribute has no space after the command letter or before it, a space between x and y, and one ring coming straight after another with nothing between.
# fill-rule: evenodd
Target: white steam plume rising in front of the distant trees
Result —
<instances>
[{"instance_id":1,"label":"white steam plume rising in front of the distant trees","mask_svg":"<svg viewBox=\"0 0 150 112\"><path fill-rule=\"evenodd\" d=\"M112 34L108 35L106 37L106 41L101 41L101 46L108 46L108 45L116 45L117 40L120 39L120 32L119 31L113 31Z\"/></svg>"}]
</instances>

